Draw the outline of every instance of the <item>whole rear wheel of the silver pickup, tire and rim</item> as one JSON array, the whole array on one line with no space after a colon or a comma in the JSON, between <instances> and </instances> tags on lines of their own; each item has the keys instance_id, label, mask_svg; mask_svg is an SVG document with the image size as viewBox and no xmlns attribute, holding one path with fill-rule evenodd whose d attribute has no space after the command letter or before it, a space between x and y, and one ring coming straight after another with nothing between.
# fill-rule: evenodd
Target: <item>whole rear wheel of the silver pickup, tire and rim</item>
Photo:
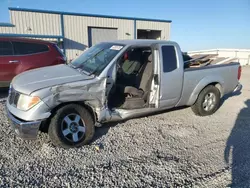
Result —
<instances>
[{"instance_id":1,"label":"whole rear wheel of the silver pickup, tire and rim","mask_svg":"<svg viewBox=\"0 0 250 188\"><path fill-rule=\"evenodd\" d=\"M208 116L216 112L219 105L220 91L215 86L209 85L200 92L191 108L196 115Z\"/></svg>"}]
</instances>

